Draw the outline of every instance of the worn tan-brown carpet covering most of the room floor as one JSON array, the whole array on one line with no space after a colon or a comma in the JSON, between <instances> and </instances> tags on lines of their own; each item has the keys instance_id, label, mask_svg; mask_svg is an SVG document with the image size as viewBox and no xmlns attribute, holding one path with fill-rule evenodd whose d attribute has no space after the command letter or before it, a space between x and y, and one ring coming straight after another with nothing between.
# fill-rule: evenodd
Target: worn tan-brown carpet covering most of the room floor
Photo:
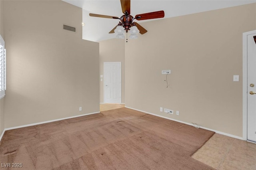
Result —
<instances>
[{"instance_id":1,"label":"worn tan-brown carpet covering most of the room floor","mask_svg":"<svg viewBox=\"0 0 256 170\"><path fill-rule=\"evenodd\" d=\"M5 132L0 163L24 170L211 170L190 156L214 132L127 108Z\"/></svg>"}]
</instances>

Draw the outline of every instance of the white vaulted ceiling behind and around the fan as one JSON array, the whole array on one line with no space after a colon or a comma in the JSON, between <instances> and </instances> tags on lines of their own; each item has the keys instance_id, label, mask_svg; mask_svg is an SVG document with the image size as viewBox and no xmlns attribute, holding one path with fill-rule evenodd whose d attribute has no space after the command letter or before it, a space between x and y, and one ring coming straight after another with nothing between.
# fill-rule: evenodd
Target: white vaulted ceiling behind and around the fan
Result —
<instances>
[{"instance_id":1,"label":"white vaulted ceiling behind and around the fan","mask_svg":"<svg viewBox=\"0 0 256 170\"><path fill-rule=\"evenodd\" d=\"M108 34L120 20L91 17L89 13L109 16L123 15L120 0L63 0L83 9L83 39L100 42L115 38ZM182 16L231 6L254 3L256 0L131 0L131 15L164 10L164 18ZM234 18L235 19L235 18ZM154 19L156 20L156 19ZM138 23L150 20L136 21ZM143 24L141 24L143 26ZM147 28L145 28L147 29Z\"/></svg>"}]
</instances>

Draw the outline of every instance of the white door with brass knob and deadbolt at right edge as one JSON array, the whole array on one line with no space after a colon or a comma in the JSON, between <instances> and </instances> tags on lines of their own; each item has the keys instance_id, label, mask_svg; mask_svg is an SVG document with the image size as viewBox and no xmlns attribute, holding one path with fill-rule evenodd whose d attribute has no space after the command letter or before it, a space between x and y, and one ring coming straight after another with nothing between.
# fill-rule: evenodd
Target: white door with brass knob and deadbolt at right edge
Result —
<instances>
[{"instance_id":1,"label":"white door with brass knob and deadbolt at right edge","mask_svg":"<svg viewBox=\"0 0 256 170\"><path fill-rule=\"evenodd\" d=\"M247 35L247 139L256 142L256 43L253 36Z\"/></svg>"}]
</instances>

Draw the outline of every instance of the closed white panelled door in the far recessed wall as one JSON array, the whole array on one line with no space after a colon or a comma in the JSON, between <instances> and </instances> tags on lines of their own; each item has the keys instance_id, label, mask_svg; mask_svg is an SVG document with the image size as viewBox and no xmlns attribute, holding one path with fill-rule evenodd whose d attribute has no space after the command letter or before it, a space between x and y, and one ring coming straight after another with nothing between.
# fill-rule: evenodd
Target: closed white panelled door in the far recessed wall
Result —
<instances>
[{"instance_id":1,"label":"closed white panelled door in the far recessed wall","mask_svg":"<svg viewBox=\"0 0 256 170\"><path fill-rule=\"evenodd\" d=\"M104 103L121 103L121 62L104 62Z\"/></svg>"}]
</instances>

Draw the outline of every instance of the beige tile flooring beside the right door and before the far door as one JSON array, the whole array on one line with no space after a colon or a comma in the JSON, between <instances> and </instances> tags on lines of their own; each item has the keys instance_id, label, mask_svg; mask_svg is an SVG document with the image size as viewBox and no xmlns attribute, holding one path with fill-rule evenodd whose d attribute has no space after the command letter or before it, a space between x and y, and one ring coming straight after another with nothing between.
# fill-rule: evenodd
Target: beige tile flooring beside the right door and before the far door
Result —
<instances>
[{"instance_id":1,"label":"beige tile flooring beside the right door and before the far door","mask_svg":"<svg viewBox=\"0 0 256 170\"><path fill-rule=\"evenodd\" d=\"M124 107L121 104L100 104L100 111ZM214 134L192 158L217 170L256 170L256 144Z\"/></svg>"}]
</instances>

